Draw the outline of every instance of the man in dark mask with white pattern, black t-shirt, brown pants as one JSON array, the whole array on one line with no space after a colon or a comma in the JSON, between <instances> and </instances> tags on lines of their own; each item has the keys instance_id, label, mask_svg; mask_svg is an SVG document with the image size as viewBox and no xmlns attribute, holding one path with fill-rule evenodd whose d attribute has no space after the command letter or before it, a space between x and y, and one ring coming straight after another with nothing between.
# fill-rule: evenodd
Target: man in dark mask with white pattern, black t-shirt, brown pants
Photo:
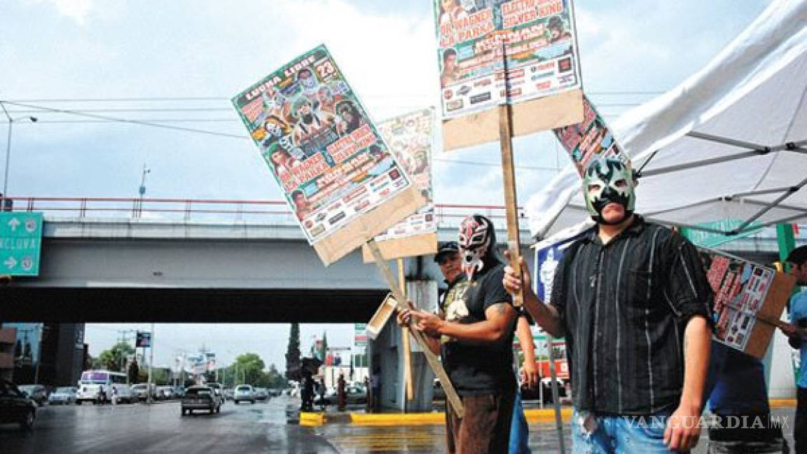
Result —
<instances>
[{"instance_id":1,"label":"man in dark mask with white pattern, black t-shirt, brown pants","mask_svg":"<svg viewBox=\"0 0 807 454\"><path fill-rule=\"evenodd\" d=\"M446 404L446 451L508 452L516 395L516 309L502 286L504 263L487 217L473 215L462 221L458 252L462 271L455 273L441 300L441 316L403 310L398 322L408 325L413 319L412 328L426 334L462 399L462 419Z\"/></svg>"}]
</instances>

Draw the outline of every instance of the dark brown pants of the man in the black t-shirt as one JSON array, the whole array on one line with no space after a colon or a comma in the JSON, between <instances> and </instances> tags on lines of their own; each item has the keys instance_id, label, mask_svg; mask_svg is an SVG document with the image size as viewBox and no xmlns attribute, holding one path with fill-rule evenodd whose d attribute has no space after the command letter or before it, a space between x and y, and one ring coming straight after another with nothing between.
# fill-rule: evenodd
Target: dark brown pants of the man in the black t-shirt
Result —
<instances>
[{"instance_id":1,"label":"dark brown pants of the man in the black t-shirt","mask_svg":"<svg viewBox=\"0 0 807 454\"><path fill-rule=\"evenodd\" d=\"M445 403L446 451L454 454L508 452L515 389L496 394L461 397L462 419Z\"/></svg>"}]
</instances>

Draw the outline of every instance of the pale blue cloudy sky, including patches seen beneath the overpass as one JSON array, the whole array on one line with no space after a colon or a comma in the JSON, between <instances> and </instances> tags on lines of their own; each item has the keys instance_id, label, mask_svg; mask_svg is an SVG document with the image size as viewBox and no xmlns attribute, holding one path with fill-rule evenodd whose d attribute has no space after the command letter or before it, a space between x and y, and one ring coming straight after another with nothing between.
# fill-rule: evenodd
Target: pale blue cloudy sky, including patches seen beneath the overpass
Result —
<instances>
[{"instance_id":1,"label":"pale blue cloudy sky, including patches seen beneath the overpass","mask_svg":"<svg viewBox=\"0 0 807 454\"><path fill-rule=\"evenodd\" d=\"M579 0L585 90L618 116L700 69L769 2ZM9 194L132 197L146 164L148 197L278 200L228 99L320 43L374 119L439 105L428 0L3 0L0 100L40 120L15 122ZM566 164L546 136L517 139L515 153L521 200ZM436 159L437 202L502 203L494 145ZM128 327L88 326L92 354ZM157 326L160 362L205 343L282 367L287 326L179 328ZM303 326L303 347L324 328ZM328 326L332 345L351 335Z\"/></svg>"}]
</instances>

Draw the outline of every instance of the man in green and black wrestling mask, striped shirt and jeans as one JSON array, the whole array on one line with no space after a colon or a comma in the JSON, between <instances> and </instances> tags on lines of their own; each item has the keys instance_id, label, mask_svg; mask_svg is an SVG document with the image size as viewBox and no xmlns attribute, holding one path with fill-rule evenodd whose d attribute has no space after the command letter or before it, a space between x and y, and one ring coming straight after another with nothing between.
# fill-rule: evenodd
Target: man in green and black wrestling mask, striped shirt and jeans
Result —
<instances>
[{"instance_id":1,"label":"man in green and black wrestling mask, striped shirt and jeans","mask_svg":"<svg viewBox=\"0 0 807 454\"><path fill-rule=\"evenodd\" d=\"M700 437L712 289L690 242L633 213L636 183L613 156L587 163L596 225L563 254L549 304L525 263L523 281L504 275L535 322L566 338L575 452L688 452Z\"/></svg>"}]
</instances>

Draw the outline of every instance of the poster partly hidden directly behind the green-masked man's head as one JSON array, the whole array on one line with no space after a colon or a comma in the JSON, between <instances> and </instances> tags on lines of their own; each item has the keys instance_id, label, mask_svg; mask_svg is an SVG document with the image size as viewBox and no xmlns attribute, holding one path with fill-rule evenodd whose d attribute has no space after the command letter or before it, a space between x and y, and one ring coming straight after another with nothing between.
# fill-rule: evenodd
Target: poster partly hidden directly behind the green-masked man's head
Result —
<instances>
[{"instance_id":1,"label":"poster partly hidden directly behind the green-masked man's head","mask_svg":"<svg viewBox=\"0 0 807 454\"><path fill-rule=\"evenodd\" d=\"M622 162L629 162L627 155L622 151L613 132L596 108L583 96L583 123L570 124L562 128L555 128L555 137L575 162L577 173L583 174L583 169L596 154L606 153L619 158Z\"/></svg>"}]
</instances>

